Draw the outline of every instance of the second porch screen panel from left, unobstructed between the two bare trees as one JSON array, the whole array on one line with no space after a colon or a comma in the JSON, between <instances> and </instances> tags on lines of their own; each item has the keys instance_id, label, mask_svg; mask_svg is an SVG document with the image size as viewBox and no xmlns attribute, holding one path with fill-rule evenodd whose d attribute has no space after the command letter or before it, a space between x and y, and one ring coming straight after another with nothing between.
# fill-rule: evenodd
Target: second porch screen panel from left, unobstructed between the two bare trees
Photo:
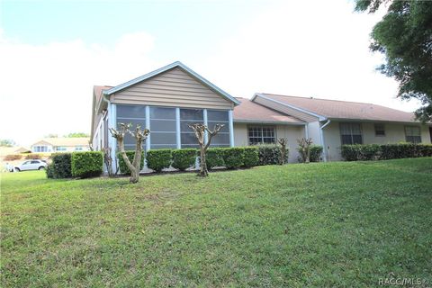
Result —
<instances>
[{"instance_id":1,"label":"second porch screen panel from left, unobstructed between the two bare trees","mask_svg":"<svg viewBox=\"0 0 432 288\"><path fill-rule=\"evenodd\" d=\"M176 148L175 108L150 107L150 149Z\"/></svg>"}]
</instances>

